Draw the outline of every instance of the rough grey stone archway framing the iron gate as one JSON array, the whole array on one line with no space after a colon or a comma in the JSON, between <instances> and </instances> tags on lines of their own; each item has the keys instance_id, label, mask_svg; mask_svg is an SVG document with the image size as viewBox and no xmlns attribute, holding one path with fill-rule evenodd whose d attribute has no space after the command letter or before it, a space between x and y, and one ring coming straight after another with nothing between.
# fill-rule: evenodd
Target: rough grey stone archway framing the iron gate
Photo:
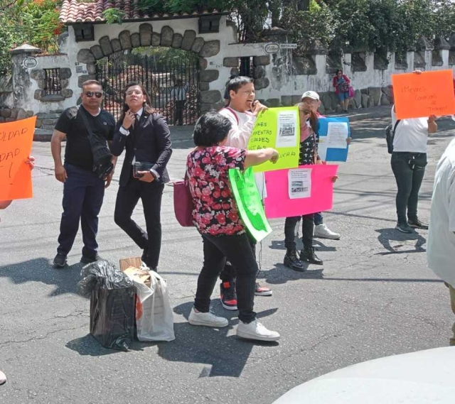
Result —
<instances>
[{"instance_id":1,"label":"rough grey stone archway framing the iron gate","mask_svg":"<svg viewBox=\"0 0 455 404\"><path fill-rule=\"evenodd\" d=\"M103 36L96 45L90 48L80 49L77 53L77 62L84 63L87 74L78 77L78 86L86 80L95 80L97 74L97 60L123 50L132 50L139 47L168 47L186 50L198 55L199 58L199 97L201 110L210 108L218 109L223 105L223 99L218 89L210 90L210 82L218 80L218 69L208 69L206 58L218 55L220 52L220 40L205 40L198 37L196 31L186 30L183 35L175 33L170 26L161 28L161 33L153 31L151 23L139 23L139 32L131 33L124 30L117 38Z\"/></svg>"}]
</instances>

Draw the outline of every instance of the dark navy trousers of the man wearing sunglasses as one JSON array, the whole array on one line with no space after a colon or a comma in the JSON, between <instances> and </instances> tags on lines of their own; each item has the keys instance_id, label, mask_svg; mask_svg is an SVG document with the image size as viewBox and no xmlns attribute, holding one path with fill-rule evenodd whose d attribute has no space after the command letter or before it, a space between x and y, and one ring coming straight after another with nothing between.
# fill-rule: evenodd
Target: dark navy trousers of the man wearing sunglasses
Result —
<instances>
[{"instance_id":1,"label":"dark navy trousers of the man wearing sunglasses","mask_svg":"<svg viewBox=\"0 0 455 404\"><path fill-rule=\"evenodd\" d=\"M82 255L97 254L98 214L105 196L105 182L91 171L65 164L68 178L63 185L63 214L57 252L67 256L73 247L79 222L84 247Z\"/></svg>"}]
</instances>

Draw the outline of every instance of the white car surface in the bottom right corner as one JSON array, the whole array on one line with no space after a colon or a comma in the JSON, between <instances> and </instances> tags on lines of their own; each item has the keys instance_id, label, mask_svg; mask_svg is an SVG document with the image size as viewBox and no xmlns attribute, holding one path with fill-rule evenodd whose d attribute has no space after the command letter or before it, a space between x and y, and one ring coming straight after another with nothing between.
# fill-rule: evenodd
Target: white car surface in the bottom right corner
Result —
<instances>
[{"instance_id":1,"label":"white car surface in the bottom right corner","mask_svg":"<svg viewBox=\"0 0 455 404\"><path fill-rule=\"evenodd\" d=\"M327 373L273 404L455 404L455 346L387 356Z\"/></svg>"}]
</instances>

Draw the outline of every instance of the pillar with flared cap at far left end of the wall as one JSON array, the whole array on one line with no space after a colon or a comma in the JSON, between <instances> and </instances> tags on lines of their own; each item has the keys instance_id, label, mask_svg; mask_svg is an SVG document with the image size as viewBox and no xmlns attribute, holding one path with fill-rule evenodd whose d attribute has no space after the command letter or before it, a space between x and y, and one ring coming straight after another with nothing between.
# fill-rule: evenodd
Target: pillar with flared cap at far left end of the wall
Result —
<instances>
[{"instance_id":1,"label":"pillar with flared cap at far left end of the wall","mask_svg":"<svg viewBox=\"0 0 455 404\"><path fill-rule=\"evenodd\" d=\"M28 105L32 102L31 97L33 97L31 77L28 68L23 66L23 60L41 52L41 49L27 44L23 44L10 51L13 72L14 107L16 109L28 109Z\"/></svg>"}]
</instances>

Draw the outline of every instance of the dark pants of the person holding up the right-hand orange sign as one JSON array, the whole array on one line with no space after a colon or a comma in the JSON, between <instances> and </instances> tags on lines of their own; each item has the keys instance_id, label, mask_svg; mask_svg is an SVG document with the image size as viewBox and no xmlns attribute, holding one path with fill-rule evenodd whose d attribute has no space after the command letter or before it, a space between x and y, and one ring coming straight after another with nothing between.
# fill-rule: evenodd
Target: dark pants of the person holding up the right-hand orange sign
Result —
<instances>
[{"instance_id":1,"label":"dark pants of the person holding up the right-hand orange sign","mask_svg":"<svg viewBox=\"0 0 455 404\"><path fill-rule=\"evenodd\" d=\"M394 152L390 163L398 187L398 222L407 223L407 219L417 219L417 202L427 165L427 153Z\"/></svg>"}]
</instances>

